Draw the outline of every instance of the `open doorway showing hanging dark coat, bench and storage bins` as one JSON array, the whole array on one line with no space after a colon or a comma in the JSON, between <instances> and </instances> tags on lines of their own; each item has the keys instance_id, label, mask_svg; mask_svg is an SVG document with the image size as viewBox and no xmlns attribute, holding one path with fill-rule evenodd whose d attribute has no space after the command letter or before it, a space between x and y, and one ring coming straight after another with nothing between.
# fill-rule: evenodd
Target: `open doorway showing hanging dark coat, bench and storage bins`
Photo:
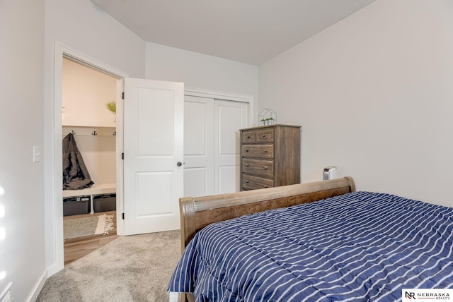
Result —
<instances>
[{"instance_id":1,"label":"open doorway showing hanging dark coat, bench and storage bins","mask_svg":"<svg viewBox=\"0 0 453 302\"><path fill-rule=\"evenodd\" d=\"M117 236L116 80L63 58L63 148L79 150L76 164L63 152L64 265Z\"/></svg>"}]
</instances>

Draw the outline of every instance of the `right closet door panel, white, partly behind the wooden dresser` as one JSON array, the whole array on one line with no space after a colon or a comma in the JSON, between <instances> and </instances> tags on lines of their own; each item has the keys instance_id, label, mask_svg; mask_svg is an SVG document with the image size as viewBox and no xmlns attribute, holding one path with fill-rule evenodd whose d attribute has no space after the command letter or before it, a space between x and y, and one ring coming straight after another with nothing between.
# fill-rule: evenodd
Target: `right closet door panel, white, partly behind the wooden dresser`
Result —
<instances>
[{"instance_id":1,"label":"right closet door panel, white, partly behind the wooden dresser","mask_svg":"<svg viewBox=\"0 0 453 302\"><path fill-rule=\"evenodd\" d=\"M238 192L239 129L248 127L248 104L214 102L214 183L217 194Z\"/></svg>"}]
</instances>

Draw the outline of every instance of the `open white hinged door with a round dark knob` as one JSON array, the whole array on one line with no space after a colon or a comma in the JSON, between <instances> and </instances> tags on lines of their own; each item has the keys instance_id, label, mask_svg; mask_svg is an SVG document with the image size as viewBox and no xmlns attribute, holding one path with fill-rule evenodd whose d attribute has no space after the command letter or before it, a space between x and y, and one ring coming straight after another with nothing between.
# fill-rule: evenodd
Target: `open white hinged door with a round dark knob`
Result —
<instances>
[{"instance_id":1,"label":"open white hinged door with a round dark knob","mask_svg":"<svg viewBox=\"0 0 453 302\"><path fill-rule=\"evenodd\" d=\"M180 228L183 94L183 83L125 78L125 235Z\"/></svg>"}]
</instances>

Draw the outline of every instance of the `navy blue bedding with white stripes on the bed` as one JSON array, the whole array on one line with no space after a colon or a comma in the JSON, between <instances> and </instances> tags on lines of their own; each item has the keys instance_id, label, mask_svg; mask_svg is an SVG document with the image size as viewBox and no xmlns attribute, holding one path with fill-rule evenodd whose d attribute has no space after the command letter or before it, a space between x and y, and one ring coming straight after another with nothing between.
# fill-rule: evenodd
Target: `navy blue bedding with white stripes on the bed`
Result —
<instances>
[{"instance_id":1,"label":"navy blue bedding with white stripes on the bed","mask_svg":"<svg viewBox=\"0 0 453 302\"><path fill-rule=\"evenodd\" d=\"M196 301L401 301L453 288L453 208L354 192L210 224L168 291Z\"/></svg>"}]
</instances>

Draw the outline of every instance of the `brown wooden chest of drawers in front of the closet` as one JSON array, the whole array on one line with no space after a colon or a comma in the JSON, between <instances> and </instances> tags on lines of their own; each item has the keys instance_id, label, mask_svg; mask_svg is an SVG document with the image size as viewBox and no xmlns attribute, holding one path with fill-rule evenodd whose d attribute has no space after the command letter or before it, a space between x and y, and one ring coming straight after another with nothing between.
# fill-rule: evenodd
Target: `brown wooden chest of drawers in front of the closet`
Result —
<instances>
[{"instance_id":1,"label":"brown wooden chest of drawers in front of the closet","mask_svg":"<svg viewBox=\"0 0 453 302\"><path fill-rule=\"evenodd\" d=\"M241 129L241 191L300 183L301 126Z\"/></svg>"}]
</instances>

